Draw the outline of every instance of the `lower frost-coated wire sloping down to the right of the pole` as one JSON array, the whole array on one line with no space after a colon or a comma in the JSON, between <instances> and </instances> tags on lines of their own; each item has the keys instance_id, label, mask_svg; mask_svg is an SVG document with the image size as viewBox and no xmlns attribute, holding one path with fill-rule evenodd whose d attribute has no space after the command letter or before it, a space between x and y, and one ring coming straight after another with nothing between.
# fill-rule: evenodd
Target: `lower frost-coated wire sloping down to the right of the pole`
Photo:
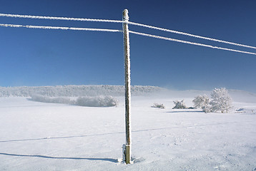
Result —
<instances>
[{"instance_id":1,"label":"lower frost-coated wire sloping down to the right of the pole","mask_svg":"<svg viewBox=\"0 0 256 171\"><path fill-rule=\"evenodd\" d=\"M202 44L202 43L195 43L195 42L191 42L191 41L182 41L182 40L178 40L178 39L174 39L174 38L156 36L156 35L147 34L147 33L139 33L139 32L136 32L136 31L129 31L129 33L134 33L134 34L141 35L141 36L148 36L148 37L152 37L152 38L164 39L164 40L167 40L167 41L176 41L176 42L179 42L179 43L187 43L187 44L192 44L192 45L196 45L196 46L204 46L204 47L207 47L207 48L217 48L217 49L221 49L221 50L225 50L225 51L235 51L235 52L238 52L238 53L247 53L247 54L251 54L251 55L256 55L256 53L253 53L253 52L239 51L239 50L235 50L235 49L231 49L231 48L222 48L222 47L212 46L212 45L207 45L207 44Z\"/></svg>"}]
</instances>

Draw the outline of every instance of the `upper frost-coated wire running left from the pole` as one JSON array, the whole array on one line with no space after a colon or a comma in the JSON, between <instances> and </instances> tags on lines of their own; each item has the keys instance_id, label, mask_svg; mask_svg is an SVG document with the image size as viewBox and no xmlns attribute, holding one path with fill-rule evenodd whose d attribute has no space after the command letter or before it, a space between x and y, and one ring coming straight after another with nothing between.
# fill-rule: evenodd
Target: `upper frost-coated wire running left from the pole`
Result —
<instances>
[{"instance_id":1,"label":"upper frost-coated wire running left from the pole","mask_svg":"<svg viewBox=\"0 0 256 171\"><path fill-rule=\"evenodd\" d=\"M30 16L30 15L19 15L19 14L0 14L0 16L7 16L7 17L14 17L14 18L24 18L24 19L51 19L51 20L95 21L95 22L123 23L123 21L118 21L118 20L81 19L81 18L56 17L56 16Z\"/></svg>"}]
</instances>

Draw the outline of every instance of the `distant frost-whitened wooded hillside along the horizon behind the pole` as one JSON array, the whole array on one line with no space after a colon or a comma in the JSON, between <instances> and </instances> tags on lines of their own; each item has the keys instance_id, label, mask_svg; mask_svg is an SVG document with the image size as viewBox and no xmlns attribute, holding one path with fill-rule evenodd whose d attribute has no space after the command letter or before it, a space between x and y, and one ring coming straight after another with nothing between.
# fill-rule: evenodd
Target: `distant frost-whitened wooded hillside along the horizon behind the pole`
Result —
<instances>
[{"instance_id":1,"label":"distant frost-whitened wooded hillside along the horizon behind the pole","mask_svg":"<svg viewBox=\"0 0 256 171\"><path fill-rule=\"evenodd\" d=\"M164 88L154 86L132 86L132 95L157 93ZM0 97L79 97L97 95L124 95L124 86L39 86L39 87L0 87Z\"/></svg>"}]
</instances>

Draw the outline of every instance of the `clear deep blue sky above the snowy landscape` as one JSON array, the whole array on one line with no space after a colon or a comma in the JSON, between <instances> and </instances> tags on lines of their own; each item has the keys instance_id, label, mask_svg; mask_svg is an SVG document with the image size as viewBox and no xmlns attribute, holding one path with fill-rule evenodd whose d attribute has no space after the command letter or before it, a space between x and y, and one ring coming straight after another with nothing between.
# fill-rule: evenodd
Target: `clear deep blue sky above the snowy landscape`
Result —
<instances>
[{"instance_id":1,"label":"clear deep blue sky above the snowy landscape","mask_svg":"<svg viewBox=\"0 0 256 171\"><path fill-rule=\"evenodd\" d=\"M0 13L129 20L256 46L256 1L0 1ZM0 24L122 29L122 24L0 17ZM149 28L132 31L256 52ZM0 86L124 85L122 33L0 27ZM256 93L256 56L130 35L132 85Z\"/></svg>"}]
</instances>

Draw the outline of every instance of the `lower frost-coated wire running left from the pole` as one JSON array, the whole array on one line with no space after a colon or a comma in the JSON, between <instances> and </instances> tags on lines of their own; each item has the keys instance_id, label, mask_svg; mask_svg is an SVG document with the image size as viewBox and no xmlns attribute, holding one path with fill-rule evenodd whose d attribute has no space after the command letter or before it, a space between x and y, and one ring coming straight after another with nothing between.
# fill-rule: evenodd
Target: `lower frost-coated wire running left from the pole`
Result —
<instances>
[{"instance_id":1,"label":"lower frost-coated wire running left from the pole","mask_svg":"<svg viewBox=\"0 0 256 171\"><path fill-rule=\"evenodd\" d=\"M42 29L59 29L59 30L75 30L75 31L107 31L107 32L123 32L122 30L103 29L103 28L75 28L75 27L60 27L60 26L30 26L17 24L0 24L4 27L23 27L23 28L42 28Z\"/></svg>"}]
</instances>

